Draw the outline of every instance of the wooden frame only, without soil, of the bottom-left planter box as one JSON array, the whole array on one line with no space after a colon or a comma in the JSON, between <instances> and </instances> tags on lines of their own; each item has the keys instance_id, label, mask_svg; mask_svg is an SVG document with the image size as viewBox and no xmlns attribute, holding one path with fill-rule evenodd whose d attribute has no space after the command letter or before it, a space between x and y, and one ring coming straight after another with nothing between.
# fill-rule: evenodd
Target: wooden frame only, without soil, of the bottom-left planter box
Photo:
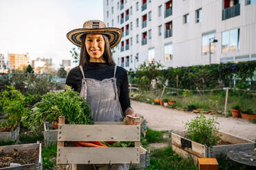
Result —
<instances>
[{"instance_id":1,"label":"wooden frame only, without soil, of the bottom-left planter box","mask_svg":"<svg viewBox=\"0 0 256 170\"><path fill-rule=\"evenodd\" d=\"M0 146L0 153L8 154L12 152L14 149L17 149L17 151L24 151L24 150L30 150L30 149L39 149L39 160L37 162L34 162L33 164L26 164L26 165L19 165L14 167L3 167L0 168L0 170L41 170L43 169L42 165L42 157L41 157L41 143L30 143L30 144L22 144L22 145L8 145L8 146Z\"/></svg>"}]
</instances>

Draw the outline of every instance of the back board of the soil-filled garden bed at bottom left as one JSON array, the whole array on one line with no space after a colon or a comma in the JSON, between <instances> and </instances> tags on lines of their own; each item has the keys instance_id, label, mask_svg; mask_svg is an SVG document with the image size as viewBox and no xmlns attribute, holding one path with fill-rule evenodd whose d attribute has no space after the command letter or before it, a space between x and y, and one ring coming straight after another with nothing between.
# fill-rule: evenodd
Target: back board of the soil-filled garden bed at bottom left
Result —
<instances>
[{"instance_id":1,"label":"back board of the soil-filled garden bed at bottom left","mask_svg":"<svg viewBox=\"0 0 256 170\"><path fill-rule=\"evenodd\" d=\"M13 151L13 149L17 149L18 151L30 150L34 148L39 148L39 143L31 143L31 144L22 144L22 145L8 145L8 146L0 146L0 153L8 154Z\"/></svg>"}]
</instances>

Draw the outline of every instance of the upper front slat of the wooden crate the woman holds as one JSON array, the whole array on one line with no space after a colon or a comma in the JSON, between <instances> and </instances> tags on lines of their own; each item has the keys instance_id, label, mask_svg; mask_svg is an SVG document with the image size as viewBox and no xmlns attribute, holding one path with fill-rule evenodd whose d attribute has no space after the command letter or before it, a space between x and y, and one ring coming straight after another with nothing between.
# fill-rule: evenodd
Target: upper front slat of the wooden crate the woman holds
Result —
<instances>
[{"instance_id":1,"label":"upper front slat of the wooden crate the woman holds","mask_svg":"<svg viewBox=\"0 0 256 170\"><path fill-rule=\"evenodd\" d=\"M140 125L58 125L58 141L140 141Z\"/></svg>"}]
</instances>

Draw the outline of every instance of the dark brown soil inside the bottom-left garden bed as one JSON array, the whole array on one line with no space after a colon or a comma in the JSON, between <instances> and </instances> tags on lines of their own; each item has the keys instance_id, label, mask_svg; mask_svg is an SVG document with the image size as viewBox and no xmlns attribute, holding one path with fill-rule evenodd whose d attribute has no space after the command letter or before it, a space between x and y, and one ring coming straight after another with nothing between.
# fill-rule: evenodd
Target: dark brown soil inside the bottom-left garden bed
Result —
<instances>
[{"instance_id":1,"label":"dark brown soil inside the bottom-left garden bed","mask_svg":"<svg viewBox=\"0 0 256 170\"><path fill-rule=\"evenodd\" d=\"M39 160L39 149L30 149L25 151L14 150L10 154L0 153L0 168L10 167L10 162L21 165L33 164Z\"/></svg>"}]
</instances>

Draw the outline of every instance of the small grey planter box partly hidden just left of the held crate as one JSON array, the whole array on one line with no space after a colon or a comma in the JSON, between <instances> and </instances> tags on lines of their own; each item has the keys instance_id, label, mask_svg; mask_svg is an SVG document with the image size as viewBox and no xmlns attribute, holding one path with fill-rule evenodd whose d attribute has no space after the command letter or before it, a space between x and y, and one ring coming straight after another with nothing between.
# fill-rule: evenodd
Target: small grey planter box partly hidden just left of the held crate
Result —
<instances>
[{"instance_id":1,"label":"small grey planter box partly hidden just left of the held crate","mask_svg":"<svg viewBox=\"0 0 256 170\"><path fill-rule=\"evenodd\" d=\"M45 145L48 146L51 143L56 143L58 138L58 130L53 130L54 128L52 123L45 122L43 124L43 129Z\"/></svg>"}]
</instances>

